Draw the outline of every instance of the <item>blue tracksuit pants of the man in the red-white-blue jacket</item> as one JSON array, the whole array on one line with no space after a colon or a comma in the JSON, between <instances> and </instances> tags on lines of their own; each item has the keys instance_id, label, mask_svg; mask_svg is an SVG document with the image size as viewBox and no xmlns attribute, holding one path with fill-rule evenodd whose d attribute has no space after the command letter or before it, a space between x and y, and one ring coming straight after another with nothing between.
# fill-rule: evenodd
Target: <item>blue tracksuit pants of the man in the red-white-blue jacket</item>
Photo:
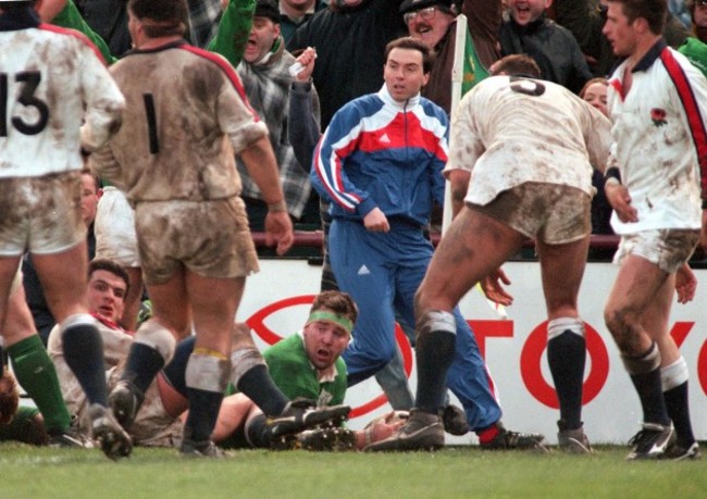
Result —
<instances>
[{"instance_id":1,"label":"blue tracksuit pants of the man in the red-white-blue jacket","mask_svg":"<svg viewBox=\"0 0 707 499\"><path fill-rule=\"evenodd\" d=\"M433 247L419 227L390 222L390 232L371 233L362 223L335 219L328 237L332 269L342 291L359 308L354 339L344 352L349 386L375 374L395 353L395 311L414 327L414 294ZM447 386L463 406L472 431L500 420L486 365L467 321L455 309L457 342Z\"/></svg>"}]
</instances>

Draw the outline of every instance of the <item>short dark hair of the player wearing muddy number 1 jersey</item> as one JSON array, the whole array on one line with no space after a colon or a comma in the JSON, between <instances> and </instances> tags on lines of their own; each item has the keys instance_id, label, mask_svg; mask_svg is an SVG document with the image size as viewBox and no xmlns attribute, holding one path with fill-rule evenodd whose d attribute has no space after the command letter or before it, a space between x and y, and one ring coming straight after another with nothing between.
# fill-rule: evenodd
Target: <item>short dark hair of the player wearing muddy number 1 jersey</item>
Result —
<instances>
[{"instance_id":1,"label":"short dark hair of the player wearing muddy number 1 jersey","mask_svg":"<svg viewBox=\"0 0 707 499\"><path fill-rule=\"evenodd\" d=\"M128 0L127 9L137 17L150 38L184 35L189 10L186 0Z\"/></svg>"}]
</instances>

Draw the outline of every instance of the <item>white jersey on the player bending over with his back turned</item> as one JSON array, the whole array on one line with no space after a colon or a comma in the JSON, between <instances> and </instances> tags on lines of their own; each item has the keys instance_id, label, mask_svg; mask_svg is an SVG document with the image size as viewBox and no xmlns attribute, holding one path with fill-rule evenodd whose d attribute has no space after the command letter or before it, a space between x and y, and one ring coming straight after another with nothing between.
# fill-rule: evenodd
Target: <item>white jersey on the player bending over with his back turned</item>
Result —
<instances>
[{"instance_id":1,"label":"white jersey on the player bending over with his back turned","mask_svg":"<svg viewBox=\"0 0 707 499\"><path fill-rule=\"evenodd\" d=\"M464 200L475 204L525 182L593 196L592 164L606 164L610 141L606 116L565 87L493 76L461 100L445 172L471 172Z\"/></svg>"}]
</instances>

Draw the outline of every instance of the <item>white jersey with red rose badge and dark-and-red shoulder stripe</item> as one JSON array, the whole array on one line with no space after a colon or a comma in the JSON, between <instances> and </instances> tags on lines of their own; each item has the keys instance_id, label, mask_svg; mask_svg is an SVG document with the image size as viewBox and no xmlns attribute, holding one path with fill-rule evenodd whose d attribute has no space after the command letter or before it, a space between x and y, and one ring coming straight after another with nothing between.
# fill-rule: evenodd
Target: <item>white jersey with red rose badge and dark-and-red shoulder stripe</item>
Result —
<instances>
[{"instance_id":1,"label":"white jersey with red rose badge and dark-and-red shoulder stripe","mask_svg":"<svg viewBox=\"0 0 707 499\"><path fill-rule=\"evenodd\" d=\"M635 65L628 95L621 85L627 63L609 83L613 122L609 166L621 171L638 222L617 234L657 228L700 228L702 191L707 194L707 80L681 53L656 43ZM702 169L702 175L700 175Z\"/></svg>"}]
</instances>

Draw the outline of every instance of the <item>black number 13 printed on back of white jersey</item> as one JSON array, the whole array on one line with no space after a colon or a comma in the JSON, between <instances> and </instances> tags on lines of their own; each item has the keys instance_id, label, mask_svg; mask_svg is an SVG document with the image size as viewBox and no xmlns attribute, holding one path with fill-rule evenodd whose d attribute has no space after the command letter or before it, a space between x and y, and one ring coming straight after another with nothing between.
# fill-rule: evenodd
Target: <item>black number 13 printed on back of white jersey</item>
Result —
<instances>
[{"instance_id":1,"label":"black number 13 printed on back of white jersey","mask_svg":"<svg viewBox=\"0 0 707 499\"><path fill-rule=\"evenodd\" d=\"M23 135L37 135L45 129L49 122L49 107L35 96L40 80L41 74L37 71L23 71L14 77L0 73L0 137L8 136L10 125ZM8 116L8 93L11 85L21 87L17 102L36 110L37 118L34 123L27 123L20 116Z\"/></svg>"}]
</instances>

